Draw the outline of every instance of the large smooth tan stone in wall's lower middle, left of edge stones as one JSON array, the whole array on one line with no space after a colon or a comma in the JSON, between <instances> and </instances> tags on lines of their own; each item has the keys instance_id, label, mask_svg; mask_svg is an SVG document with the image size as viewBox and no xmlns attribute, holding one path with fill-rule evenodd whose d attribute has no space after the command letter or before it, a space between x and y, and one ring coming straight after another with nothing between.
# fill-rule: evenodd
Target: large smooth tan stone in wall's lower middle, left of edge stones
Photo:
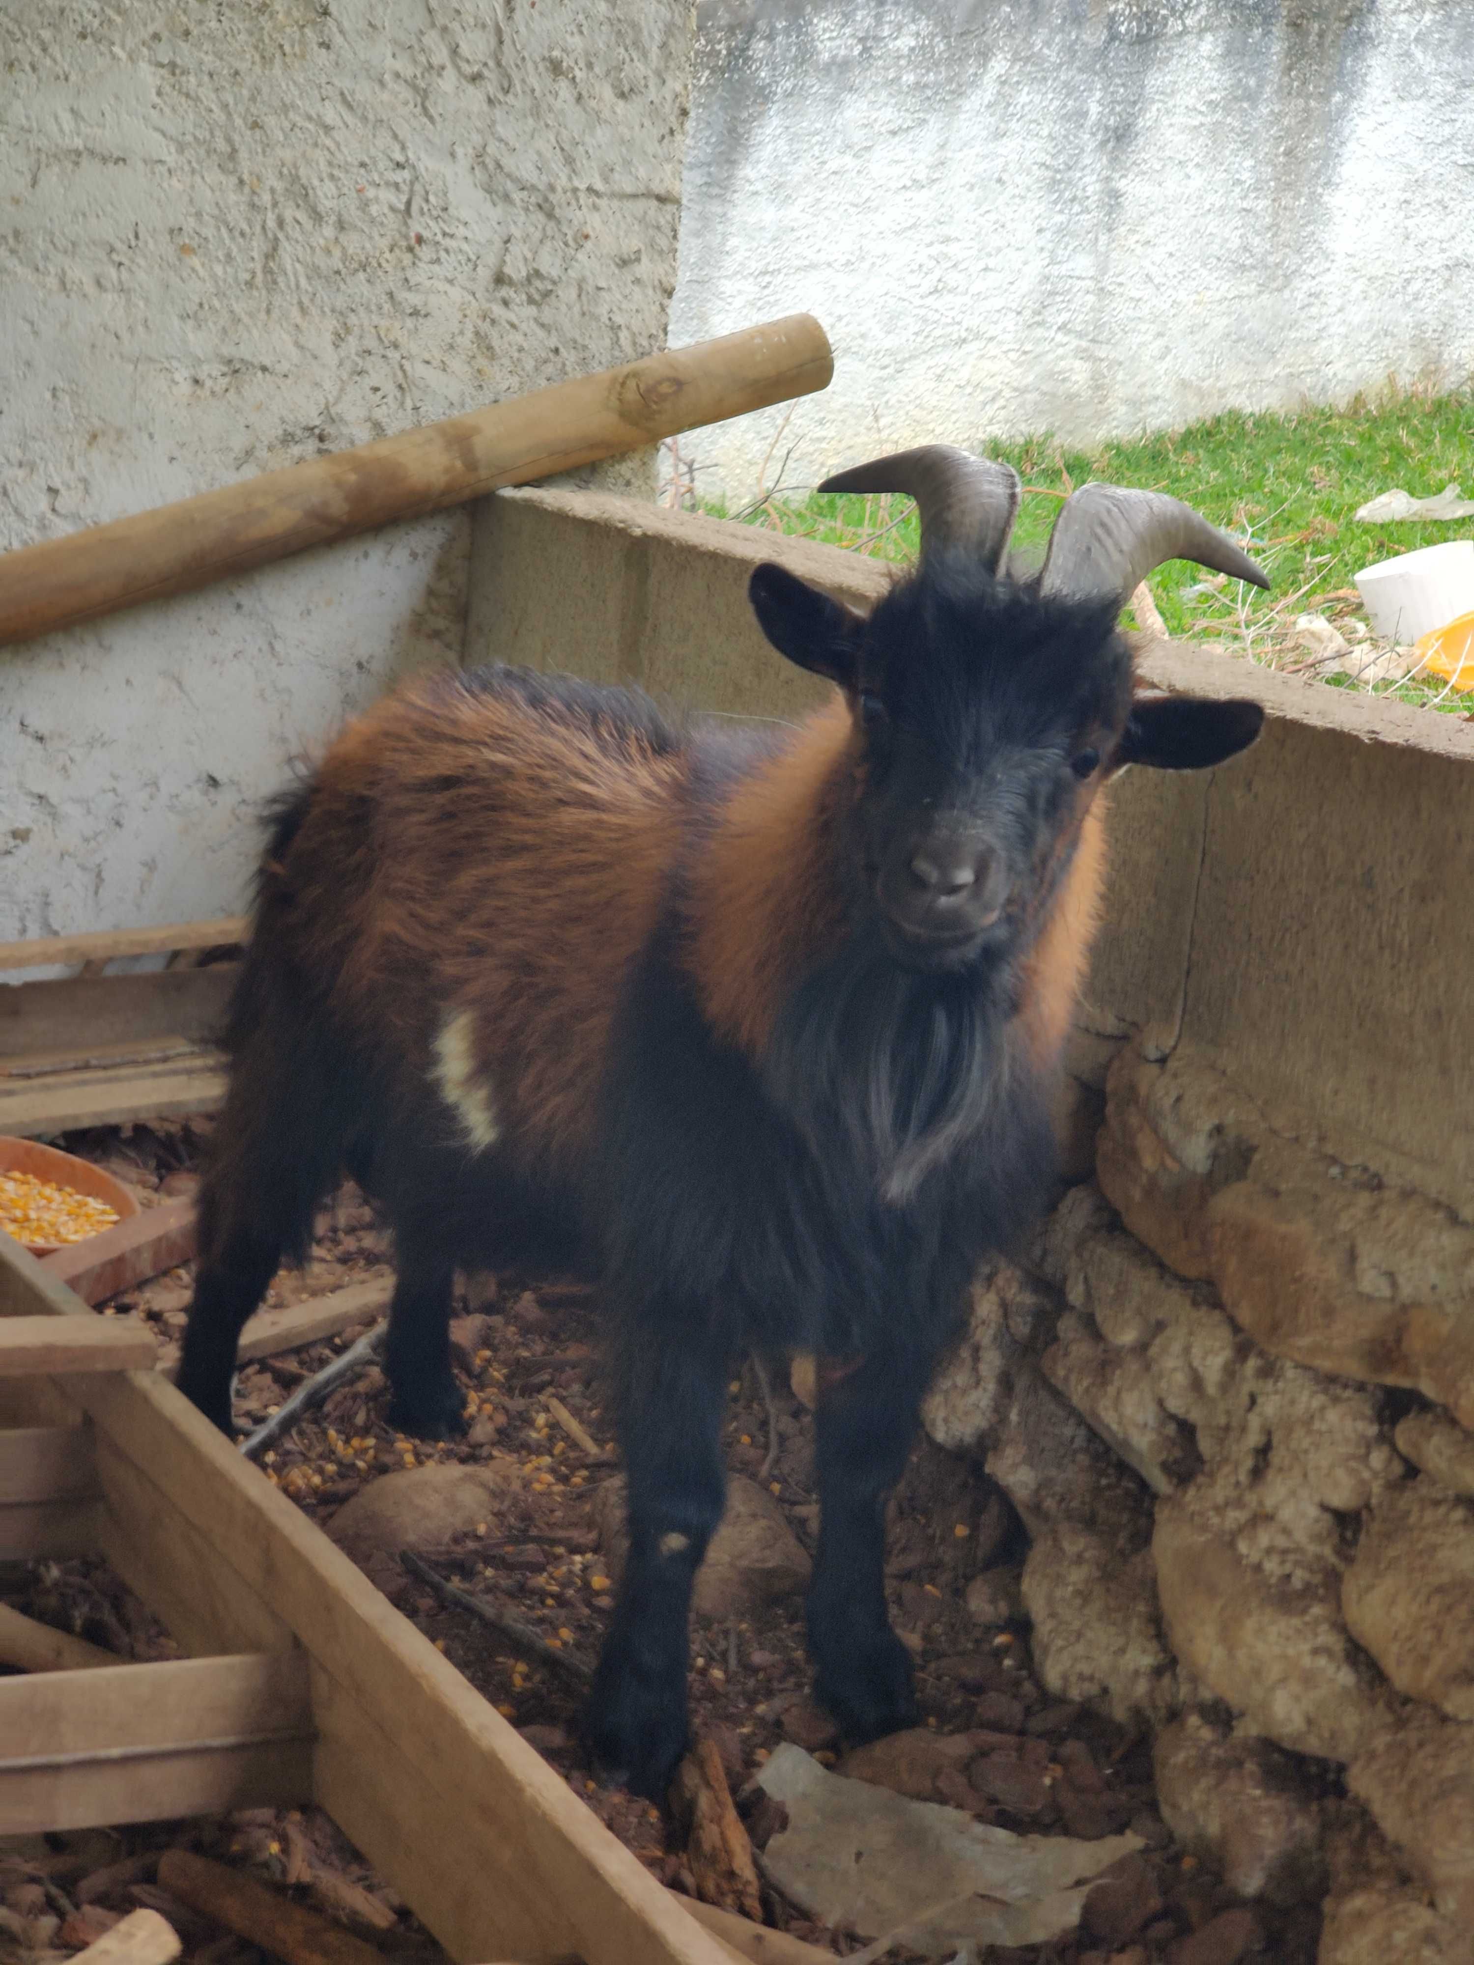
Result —
<instances>
[{"instance_id":1,"label":"large smooth tan stone in wall's lower middle, left of edge stones","mask_svg":"<svg viewBox=\"0 0 1474 1965\"><path fill-rule=\"evenodd\" d=\"M1340 1621L1338 1576L1311 1556L1252 1562L1195 1491L1158 1503L1162 1621L1171 1651L1256 1733L1329 1761L1350 1761L1380 1710Z\"/></svg>"}]
</instances>

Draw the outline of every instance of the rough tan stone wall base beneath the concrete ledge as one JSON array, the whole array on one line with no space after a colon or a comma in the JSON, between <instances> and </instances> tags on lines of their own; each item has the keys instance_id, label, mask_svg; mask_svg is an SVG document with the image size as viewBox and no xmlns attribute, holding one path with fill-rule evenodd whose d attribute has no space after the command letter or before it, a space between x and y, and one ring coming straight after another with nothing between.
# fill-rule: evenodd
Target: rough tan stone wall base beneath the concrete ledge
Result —
<instances>
[{"instance_id":1,"label":"rough tan stone wall base beneath the concrete ledge","mask_svg":"<svg viewBox=\"0 0 1474 1965\"><path fill-rule=\"evenodd\" d=\"M979 1277L928 1429L1024 1519L1046 1686L1154 1729L1189 1847L1329 1890L1323 1965L1468 1961L1474 1226L1191 1047L1103 1089L1097 1181Z\"/></svg>"}]
</instances>

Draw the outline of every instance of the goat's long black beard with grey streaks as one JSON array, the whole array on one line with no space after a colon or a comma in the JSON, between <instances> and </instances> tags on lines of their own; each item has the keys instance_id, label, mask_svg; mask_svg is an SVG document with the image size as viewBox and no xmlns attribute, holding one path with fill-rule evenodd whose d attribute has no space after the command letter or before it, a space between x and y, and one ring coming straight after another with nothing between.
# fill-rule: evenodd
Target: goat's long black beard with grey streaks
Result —
<instances>
[{"instance_id":1,"label":"goat's long black beard with grey streaks","mask_svg":"<svg viewBox=\"0 0 1474 1965\"><path fill-rule=\"evenodd\" d=\"M778 1012L765 1089L818 1159L906 1207L1006 1104L1010 1008L1008 959L916 973L865 922Z\"/></svg>"}]
</instances>

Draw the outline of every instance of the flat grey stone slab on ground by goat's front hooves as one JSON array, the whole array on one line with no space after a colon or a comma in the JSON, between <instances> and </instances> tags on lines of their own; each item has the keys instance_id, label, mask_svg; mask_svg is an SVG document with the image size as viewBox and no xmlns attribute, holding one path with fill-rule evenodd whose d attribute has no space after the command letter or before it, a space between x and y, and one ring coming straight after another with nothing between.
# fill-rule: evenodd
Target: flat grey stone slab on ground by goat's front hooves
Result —
<instances>
[{"instance_id":1,"label":"flat grey stone slab on ground by goat's front hooves","mask_svg":"<svg viewBox=\"0 0 1474 1965\"><path fill-rule=\"evenodd\" d=\"M904 1934L930 1957L951 1957L969 1941L983 1949L1057 1937L1079 1918L1079 1884L1140 1847L1134 1835L1099 1843L1010 1835L961 1810L827 1774L790 1745L778 1747L759 1784L788 1812L763 1851L774 1886L810 1918L843 1918L863 1937Z\"/></svg>"}]
</instances>

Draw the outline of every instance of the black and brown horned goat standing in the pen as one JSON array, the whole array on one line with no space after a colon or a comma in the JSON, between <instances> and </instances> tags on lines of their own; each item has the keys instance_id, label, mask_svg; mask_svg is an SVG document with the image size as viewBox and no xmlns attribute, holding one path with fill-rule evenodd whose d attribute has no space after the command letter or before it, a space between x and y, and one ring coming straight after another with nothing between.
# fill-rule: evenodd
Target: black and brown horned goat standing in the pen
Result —
<instances>
[{"instance_id":1,"label":"black and brown horned goat standing in the pen","mask_svg":"<svg viewBox=\"0 0 1474 1965\"><path fill-rule=\"evenodd\" d=\"M275 817L202 1189L181 1385L226 1431L240 1326L342 1167L393 1222L407 1432L462 1425L456 1267L597 1267L629 1562L588 1727L647 1794L686 1745L747 1348L853 1362L816 1423L816 1690L851 1739L914 1723L884 1497L979 1256L1049 1199L1101 788L1260 729L1248 702L1132 694L1116 613L1152 566L1264 584L1173 499L1087 485L1014 580L1000 466L926 448L825 489L912 493L924 552L869 619L753 574L768 641L837 686L794 731L676 731L505 668L350 725Z\"/></svg>"}]
</instances>

